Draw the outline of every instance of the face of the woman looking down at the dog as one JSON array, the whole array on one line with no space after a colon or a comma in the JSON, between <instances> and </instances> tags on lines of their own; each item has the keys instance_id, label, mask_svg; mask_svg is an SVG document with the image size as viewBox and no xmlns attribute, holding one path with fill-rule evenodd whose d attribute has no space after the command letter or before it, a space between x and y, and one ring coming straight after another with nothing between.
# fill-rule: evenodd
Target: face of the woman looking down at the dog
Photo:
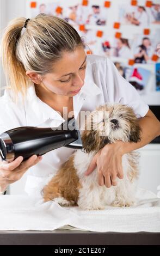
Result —
<instances>
[{"instance_id":1,"label":"face of the woman looking down at the dog","mask_svg":"<svg viewBox=\"0 0 160 256\"><path fill-rule=\"evenodd\" d=\"M59 95L76 95L84 84L86 58L83 46L63 52L62 58L53 64L53 72L41 76L40 86Z\"/></svg>"}]
</instances>

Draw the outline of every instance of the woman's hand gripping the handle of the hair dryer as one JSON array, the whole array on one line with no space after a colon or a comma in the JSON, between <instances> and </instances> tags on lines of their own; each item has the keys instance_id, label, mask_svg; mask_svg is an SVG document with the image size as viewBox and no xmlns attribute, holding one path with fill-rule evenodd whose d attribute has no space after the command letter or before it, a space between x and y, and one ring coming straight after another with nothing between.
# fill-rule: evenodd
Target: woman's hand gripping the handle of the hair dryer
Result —
<instances>
[{"instance_id":1,"label":"woman's hand gripping the handle of the hair dryer","mask_svg":"<svg viewBox=\"0 0 160 256\"><path fill-rule=\"evenodd\" d=\"M17 157L13 162L0 161L0 192L5 191L9 184L20 180L22 175L41 159L42 156L33 155L25 161L22 156Z\"/></svg>"}]
</instances>

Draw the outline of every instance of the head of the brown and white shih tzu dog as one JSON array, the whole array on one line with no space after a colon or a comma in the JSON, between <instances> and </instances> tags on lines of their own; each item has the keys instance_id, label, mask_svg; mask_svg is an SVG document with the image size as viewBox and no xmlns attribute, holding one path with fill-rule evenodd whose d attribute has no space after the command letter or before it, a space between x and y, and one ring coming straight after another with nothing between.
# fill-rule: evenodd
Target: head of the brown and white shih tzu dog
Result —
<instances>
[{"instance_id":1,"label":"head of the brown and white shih tzu dog","mask_svg":"<svg viewBox=\"0 0 160 256\"><path fill-rule=\"evenodd\" d=\"M131 107L108 103L88 115L82 133L83 148L87 153L99 151L107 143L117 140L140 141L140 126Z\"/></svg>"}]
</instances>

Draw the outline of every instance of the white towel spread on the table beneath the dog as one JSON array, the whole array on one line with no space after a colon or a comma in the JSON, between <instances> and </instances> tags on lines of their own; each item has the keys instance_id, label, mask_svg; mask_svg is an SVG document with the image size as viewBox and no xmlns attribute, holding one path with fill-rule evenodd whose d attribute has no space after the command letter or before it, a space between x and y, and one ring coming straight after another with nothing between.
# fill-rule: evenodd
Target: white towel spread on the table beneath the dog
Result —
<instances>
[{"instance_id":1,"label":"white towel spread on the table beneath the dog","mask_svg":"<svg viewBox=\"0 0 160 256\"><path fill-rule=\"evenodd\" d=\"M44 203L40 197L1 196L0 230L160 231L160 199L142 188L138 188L137 198L134 207L83 211Z\"/></svg>"}]
</instances>

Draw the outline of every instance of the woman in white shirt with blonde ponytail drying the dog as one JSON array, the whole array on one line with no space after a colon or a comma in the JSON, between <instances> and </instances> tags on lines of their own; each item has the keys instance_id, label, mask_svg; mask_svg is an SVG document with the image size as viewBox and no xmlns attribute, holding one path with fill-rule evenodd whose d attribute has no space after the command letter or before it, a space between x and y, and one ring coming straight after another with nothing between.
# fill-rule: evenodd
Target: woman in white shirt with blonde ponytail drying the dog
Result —
<instances>
[{"instance_id":1,"label":"woman in white shirt with blonde ponytail drying the dog","mask_svg":"<svg viewBox=\"0 0 160 256\"><path fill-rule=\"evenodd\" d=\"M0 133L19 126L62 123L69 112L93 111L104 102L120 102L133 107L143 130L141 142L106 145L91 162L89 175L99 169L100 186L116 185L122 179L122 155L143 147L159 135L159 122L139 94L106 57L86 56L78 33L57 17L38 15L18 18L8 25L2 40L3 65L10 89L0 100ZM67 107L64 113L63 107ZM29 169L26 191L40 193L47 179L56 173L73 149L59 148L43 157L33 155L23 161L1 162L0 187L8 185Z\"/></svg>"}]
</instances>

